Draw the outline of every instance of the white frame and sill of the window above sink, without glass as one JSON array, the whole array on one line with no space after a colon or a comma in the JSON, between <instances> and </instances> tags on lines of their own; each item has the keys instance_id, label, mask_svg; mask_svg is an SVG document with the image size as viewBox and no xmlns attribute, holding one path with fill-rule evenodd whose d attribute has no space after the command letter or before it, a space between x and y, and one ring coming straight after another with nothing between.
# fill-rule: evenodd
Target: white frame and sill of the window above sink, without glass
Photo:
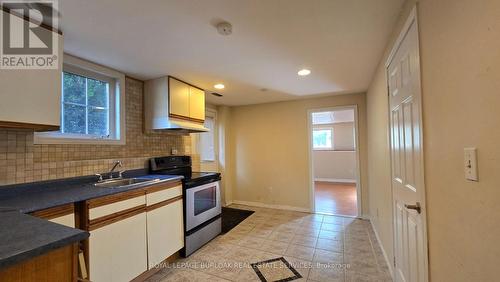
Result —
<instances>
[{"instance_id":1,"label":"white frame and sill of the window above sink, without glass","mask_svg":"<svg viewBox=\"0 0 500 282\"><path fill-rule=\"evenodd\" d=\"M35 132L35 144L108 144L125 145L125 75L115 70L64 54L63 71L109 83L109 130L110 136L71 134L57 132ZM61 76L62 76L61 72ZM62 87L62 83L61 83ZM62 97L61 97L62 114ZM62 127L61 118L61 127Z\"/></svg>"}]
</instances>

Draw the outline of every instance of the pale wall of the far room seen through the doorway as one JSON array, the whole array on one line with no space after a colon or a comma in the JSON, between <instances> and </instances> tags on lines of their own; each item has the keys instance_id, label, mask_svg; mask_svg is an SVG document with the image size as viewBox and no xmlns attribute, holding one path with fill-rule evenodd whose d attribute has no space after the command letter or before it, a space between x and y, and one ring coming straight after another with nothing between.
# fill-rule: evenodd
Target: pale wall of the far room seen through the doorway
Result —
<instances>
[{"instance_id":1,"label":"pale wall of the far room seen through the doorway","mask_svg":"<svg viewBox=\"0 0 500 282\"><path fill-rule=\"evenodd\" d=\"M313 128L325 127L333 127L334 150L313 151L314 179L356 182L354 123L344 122L313 126Z\"/></svg>"}]
</instances>

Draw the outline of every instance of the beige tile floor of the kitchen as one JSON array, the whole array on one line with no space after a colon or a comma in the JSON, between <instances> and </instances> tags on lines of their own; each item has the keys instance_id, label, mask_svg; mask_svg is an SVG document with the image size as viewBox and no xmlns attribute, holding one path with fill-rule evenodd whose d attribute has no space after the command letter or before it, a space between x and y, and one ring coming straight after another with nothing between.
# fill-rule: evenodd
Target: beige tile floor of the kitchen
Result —
<instances>
[{"instance_id":1,"label":"beige tile floor of the kitchen","mask_svg":"<svg viewBox=\"0 0 500 282\"><path fill-rule=\"evenodd\" d=\"M252 264L266 281L290 277L293 281L392 281L368 221L231 207L255 213L189 258L160 266L147 281L262 281ZM284 261L276 260L281 257ZM267 268L265 261L269 261Z\"/></svg>"}]
</instances>

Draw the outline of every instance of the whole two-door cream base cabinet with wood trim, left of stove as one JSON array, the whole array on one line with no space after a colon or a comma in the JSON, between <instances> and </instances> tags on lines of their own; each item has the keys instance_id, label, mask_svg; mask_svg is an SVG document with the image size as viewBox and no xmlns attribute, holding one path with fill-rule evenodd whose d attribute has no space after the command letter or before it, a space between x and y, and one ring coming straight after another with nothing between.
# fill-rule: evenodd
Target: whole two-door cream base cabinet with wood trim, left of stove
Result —
<instances>
[{"instance_id":1,"label":"whole two-door cream base cabinet with wood trim, left of stove","mask_svg":"<svg viewBox=\"0 0 500 282\"><path fill-rule=\"evenodd\" d=\"M184 247L182 184L157 184L84 203L92 282L130 281Z\"/></svg>"}]
</instances>

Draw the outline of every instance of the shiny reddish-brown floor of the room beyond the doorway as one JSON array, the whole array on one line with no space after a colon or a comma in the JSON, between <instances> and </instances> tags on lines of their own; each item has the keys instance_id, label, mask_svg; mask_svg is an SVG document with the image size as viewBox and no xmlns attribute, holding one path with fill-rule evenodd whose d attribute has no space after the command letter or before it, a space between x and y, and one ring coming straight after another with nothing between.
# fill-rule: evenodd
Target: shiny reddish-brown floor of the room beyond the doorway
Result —
<instances>
[{"instance_id":1,"label":"shiny reddish-brown floor of the room beyond the doorway","mask_svg":"<svg viewBox=\"0 0 500 282\"><path fill-rule=\"evenodd\" d=\"M356 184L314 182L316 212L357 216Z\"/></svg>"}]
</instances>

